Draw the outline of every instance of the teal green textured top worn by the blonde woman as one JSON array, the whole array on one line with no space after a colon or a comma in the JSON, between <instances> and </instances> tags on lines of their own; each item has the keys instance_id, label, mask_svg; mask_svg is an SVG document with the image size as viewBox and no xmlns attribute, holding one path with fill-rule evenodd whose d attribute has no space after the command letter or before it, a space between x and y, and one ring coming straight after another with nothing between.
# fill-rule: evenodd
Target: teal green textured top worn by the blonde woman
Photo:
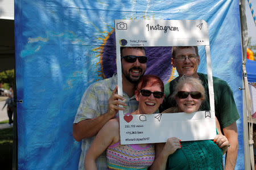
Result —
<instances>
[{"instance_id":1,"label":"teal green textured top worn by the blonde woman","mask_svg":"<svg viewBox=\"0 0 256 170\"><path fill-rule=\"evenodd\" d=\"M222 169L222 150L211 140L181 142L166 169Z\"/></svg>"}]
</instances>

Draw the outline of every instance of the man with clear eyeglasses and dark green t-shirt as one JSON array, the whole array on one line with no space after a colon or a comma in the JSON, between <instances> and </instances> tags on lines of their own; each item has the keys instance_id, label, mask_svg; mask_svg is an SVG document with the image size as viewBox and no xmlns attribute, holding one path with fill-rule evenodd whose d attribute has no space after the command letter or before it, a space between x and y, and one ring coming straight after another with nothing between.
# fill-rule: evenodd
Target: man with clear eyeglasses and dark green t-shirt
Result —
<instances>
[{"instance_id":1,"label":"man with clear eyeglasses and dark green t-shirt","mask_svg":"<svg viewBox=\"0 0 256 170\"><path fill-rule=\"evenodd\" d=\"M183 75L199 78L205 88L205 99L201 104L200 111L209 111L209 88L207 74L198 73L197 66L200 57L197 46L173 46L171 64L176 67L179 76L164 86L164 101L160 111L176 106L175 100L171 99L174 86ZM234 169L238 152L238 135L236 121L240 118L233 92L224 80L213 77L215 115L220 122L221 130L230 143L226 154L225 169Z\"/></svg>"}]
</instances>

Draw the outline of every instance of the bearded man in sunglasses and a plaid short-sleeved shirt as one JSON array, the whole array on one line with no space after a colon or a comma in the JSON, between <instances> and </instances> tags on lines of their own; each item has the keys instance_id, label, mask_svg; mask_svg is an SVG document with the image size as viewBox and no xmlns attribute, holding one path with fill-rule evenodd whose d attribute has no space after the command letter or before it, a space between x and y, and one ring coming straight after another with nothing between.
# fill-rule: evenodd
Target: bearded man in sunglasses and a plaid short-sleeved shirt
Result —
<instances>
[{"instance_id":1,"label":"bearded man in sunglasses and a plaid short-sleeved shirt","mask_svg":"<svg viewBox=\"0 0 256 170\"><path fill-rule=\"evenodd\" d=\"M73 122L73 137L82 140L79 169L84 169L84 158L94 136L116 115L134 112L138 108L134 91L139 78L146 71L147 57L144 47L121 47L123 96L117 94L117 74L91 84L82 96ZM119 99L119 100L118 100ZM122 105L123 107L119 107ZM107 169L106 152L96 161L97 169Z\"/></svg>"}]
</instances>

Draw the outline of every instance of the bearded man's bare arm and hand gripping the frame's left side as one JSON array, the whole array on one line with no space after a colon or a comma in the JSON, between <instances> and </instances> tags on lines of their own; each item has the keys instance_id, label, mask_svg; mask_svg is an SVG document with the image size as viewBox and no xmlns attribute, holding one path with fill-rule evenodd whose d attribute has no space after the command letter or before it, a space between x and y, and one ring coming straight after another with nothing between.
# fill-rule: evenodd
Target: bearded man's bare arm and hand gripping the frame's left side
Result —
<instances>
[{"instance_id":1,"label":"bearded man's bare arm and hand gripping the frame's left side","mask_svg":"<svg viewBox=\"0 0 256 170\"><path fill-rule=\"evenodd\" d=\"M115 116L119 110L124 110L124 108L118 107L118 104L126 106L126 103L118 100L124 99L122 96L117 95L116 92L117 86L108 100L108 112L101 114L101 116L96 118L86 119L77 124L73 124L73 137L76 139L76 141L93 137L98 133L102 126L106 124L106 122Z\"/></svg>"}]
</instances>

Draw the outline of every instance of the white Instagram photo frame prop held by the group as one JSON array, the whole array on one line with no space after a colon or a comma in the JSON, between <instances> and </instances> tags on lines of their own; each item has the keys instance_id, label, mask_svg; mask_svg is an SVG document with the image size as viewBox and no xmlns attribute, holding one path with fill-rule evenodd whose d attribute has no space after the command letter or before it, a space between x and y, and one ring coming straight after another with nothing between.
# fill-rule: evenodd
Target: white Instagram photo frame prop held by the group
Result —
<instances>
[{"instance_id":1,"label":"white Instagram photo frame prop held by the group","mask_svg":"<svg viewBox=\"0 0 256 170\"><path fill-rule=\"evenodd\" d=\"M205 46L210 111L125 115L119 111L121 144L214 139L216 124L208 24L204 20L115 20L118 95L122 91L121 46ZM171 53L170 53L171 59Z\"/></svg>"}]
</instances>

